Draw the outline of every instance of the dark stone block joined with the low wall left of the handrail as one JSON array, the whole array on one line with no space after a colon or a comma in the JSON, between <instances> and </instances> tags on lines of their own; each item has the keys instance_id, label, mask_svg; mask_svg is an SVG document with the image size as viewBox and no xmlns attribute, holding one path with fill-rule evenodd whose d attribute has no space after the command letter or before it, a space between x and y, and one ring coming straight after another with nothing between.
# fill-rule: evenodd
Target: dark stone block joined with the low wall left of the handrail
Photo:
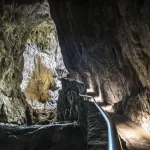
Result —
<instances>
[{"instance_id":1,"label":"dark stone block joined with the low wall left of the handrail","mask_svg":"<svg viewBox=\"0 0 150 150\"><path fill-rule=\"evenodd\" d=\"M77 122L84 133L88 150L108 148L108 129L106 122L93 102L83 99L84 84L72 79L62 79L62 91L57 105L57 121ZM124 150L127 150L122 140Z\"/></svg>"}]
</instances>

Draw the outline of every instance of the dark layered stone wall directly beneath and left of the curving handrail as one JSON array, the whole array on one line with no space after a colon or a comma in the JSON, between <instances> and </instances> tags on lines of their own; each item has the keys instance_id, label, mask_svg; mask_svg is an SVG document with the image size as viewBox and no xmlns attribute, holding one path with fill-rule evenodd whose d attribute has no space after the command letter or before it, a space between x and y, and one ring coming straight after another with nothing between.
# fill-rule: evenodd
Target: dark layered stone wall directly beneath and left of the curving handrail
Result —
<instances>
[{"instance_id":1,"label":"dark layered stone wall directly beneath and left of the curving handrail","mask_svg":"<svg viewBox=\"0 0 150 150\"><path fill-rule=\"evenodd\" d=\"M106 150L108 147L107 125L94 103L88 103L87 112L88 150Z\"/></svg>"}]
</instances>

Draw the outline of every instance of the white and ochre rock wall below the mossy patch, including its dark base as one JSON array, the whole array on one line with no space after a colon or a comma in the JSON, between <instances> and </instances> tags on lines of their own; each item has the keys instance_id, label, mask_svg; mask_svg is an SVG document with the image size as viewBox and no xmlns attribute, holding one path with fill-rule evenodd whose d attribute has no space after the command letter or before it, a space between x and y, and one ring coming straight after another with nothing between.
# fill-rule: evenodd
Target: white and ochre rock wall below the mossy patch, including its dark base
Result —
<instances>
[{"instance_id":1,"label":"white and ochre rock wall below the mossy patch, including its dark base","mask_svg":"<svg viewBox=\"0 0 150 150\"><path fill-rule=\"evenodd\" d=\"M68 74L56 37L54 32L49 49L30 43L24 51L21 89L33 109L32 118L36 118L32 119L35 120L32 124L49 123L55 118L59 92L62 90L61 78ZM33 116L34 113L37 117Z\"/></svg>"}]
</instances>

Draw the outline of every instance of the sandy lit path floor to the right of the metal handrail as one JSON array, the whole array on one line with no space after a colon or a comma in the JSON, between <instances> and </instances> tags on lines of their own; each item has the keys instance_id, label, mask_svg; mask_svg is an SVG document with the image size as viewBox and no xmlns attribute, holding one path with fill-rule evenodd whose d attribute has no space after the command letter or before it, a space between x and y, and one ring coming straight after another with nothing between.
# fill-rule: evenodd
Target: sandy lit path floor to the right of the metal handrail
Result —
<instances>
[{"instance_id":1,"label":"sandy lit path floor to the right of the metal handrail","mask_svg":"<svg viewBox=\"0 0 150 150\"><path fill-rule=\"evenodd\" d=\"M150 133L123 115L109 113L129 150L150 150Z\"/></svg>"}]
</instances>

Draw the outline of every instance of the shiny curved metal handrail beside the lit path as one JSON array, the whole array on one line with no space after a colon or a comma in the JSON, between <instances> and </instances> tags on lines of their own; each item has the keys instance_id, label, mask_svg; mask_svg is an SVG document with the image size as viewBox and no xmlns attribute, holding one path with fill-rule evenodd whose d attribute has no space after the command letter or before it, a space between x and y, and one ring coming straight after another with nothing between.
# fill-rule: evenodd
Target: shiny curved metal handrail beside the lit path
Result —
<instances>
[{"instance_id":1,"label":"shiny curved metal handrail beside the lit path","mask_svg":"<svg viewBox=\"0 0 150 150\"><path fill-rule=\"evenodd\" d=\"M89 96L89 95L82 95L82 94L79 94L79 95L81 97L92 98L94 100L95 106L100 111L103 118L105 119L107 128L108 128L108 150L123 150L122 144L120 142L120 138L118 136L116 126L113 123L113 121L111 120L111 118L109 117L109 115L97 104L94 97Z\"/></svg>"}]
</instances>

